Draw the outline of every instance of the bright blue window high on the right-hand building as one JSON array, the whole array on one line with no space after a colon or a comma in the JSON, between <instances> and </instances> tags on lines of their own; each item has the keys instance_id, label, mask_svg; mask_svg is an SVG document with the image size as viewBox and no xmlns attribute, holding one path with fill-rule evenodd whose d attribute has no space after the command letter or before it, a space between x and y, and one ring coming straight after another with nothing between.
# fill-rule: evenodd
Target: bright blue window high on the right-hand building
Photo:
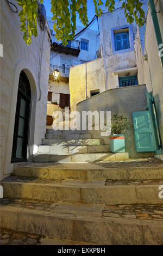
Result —
<instances>
[{"instance_id":1,"label":"bright blue window high on the right-hand building","mask_svg":"<svg viewBox=\"0 0 163 256\"><path fill-rule=\"evenodd\" d=\"M130 48L128 32L114 34L114 41L115 51L121 51Z\"/></svg>"}]
</instances>

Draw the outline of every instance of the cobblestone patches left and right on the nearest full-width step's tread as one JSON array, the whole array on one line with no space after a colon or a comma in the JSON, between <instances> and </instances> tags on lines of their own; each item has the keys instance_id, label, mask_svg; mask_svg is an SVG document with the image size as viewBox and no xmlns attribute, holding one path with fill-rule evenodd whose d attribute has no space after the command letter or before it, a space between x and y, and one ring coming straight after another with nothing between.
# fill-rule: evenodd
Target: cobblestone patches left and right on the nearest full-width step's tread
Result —
<instances>
[{"instance_id":1,"label":"cobblestone patches left and right on the nearest full-width step's tread","mask_svg":"<svg viewBox=\"0 0 163 256\"><path fill-rule=\"evenodd\" d=\"M23 199L1 199L2 205L14 206L17 208L28 208L32 210L44 210L47 212L58 212L56 208L59 202L41 202L36 200ZM67 204L68 205L68 204ZM65 208L66 209L66 208ZM66 212L65 212L66 214ZM76 217L77 212L71 212L71 217ZM99 216L100 217L100 216ZM124 204L105 205L101 217L135 218L146 220L163 221L163 204Z\"/></svg>"}]
</instances>

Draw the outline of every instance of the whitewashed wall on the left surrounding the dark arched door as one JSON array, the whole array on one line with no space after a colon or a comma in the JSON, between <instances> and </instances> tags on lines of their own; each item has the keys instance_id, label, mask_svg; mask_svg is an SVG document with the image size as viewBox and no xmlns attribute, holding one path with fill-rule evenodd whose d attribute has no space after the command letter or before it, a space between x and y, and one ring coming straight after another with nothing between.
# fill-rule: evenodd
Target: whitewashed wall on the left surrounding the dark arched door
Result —
<instances>
[{"instance_id":1,"label":"whitewashed wall on the left surrounding the dark arched door","mask_svg":"<svg viewBox=\"0 0 163 256\"><path fill-rule=\"evenodd\" d=\"M16 1L12 1L16 4ZM18 8L18 13L20 8ZM28 76L32 90L32 112L30 116L30 135L28 146L30 154L37 151L37 145L45 137L46 108L49 73L50 42L47 31L43 42L41 63L41 100L39 99L39 60L43 31L37 25L38 35L27 46L20 29L20 17L14 14L6 1L1 1L1 179L12 172L11 153L15 124L18 80L23 70Z\"/></svg>"}]
</instances>

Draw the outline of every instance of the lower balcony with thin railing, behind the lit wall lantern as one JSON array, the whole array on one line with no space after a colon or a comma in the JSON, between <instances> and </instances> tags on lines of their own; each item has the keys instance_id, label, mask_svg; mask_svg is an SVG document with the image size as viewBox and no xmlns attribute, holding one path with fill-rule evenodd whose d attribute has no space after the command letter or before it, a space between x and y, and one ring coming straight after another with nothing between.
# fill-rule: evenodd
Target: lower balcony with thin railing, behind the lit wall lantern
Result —
<instances>
[{"instance_id":1,"label":"lower balcony with thin railing, behind the lit wall lantern","mask_svg":"<svg viewBox=\"0 0 163 256\"><path fill-rule=\"evenodd\" d=\"M60 72L58 80L67 83L69 81L70 68L65 68L64 66L57 66L51 64L49 69L49 78L53 78L53 71L55 69L58 69Z\"/></svg>"}]
</instances>

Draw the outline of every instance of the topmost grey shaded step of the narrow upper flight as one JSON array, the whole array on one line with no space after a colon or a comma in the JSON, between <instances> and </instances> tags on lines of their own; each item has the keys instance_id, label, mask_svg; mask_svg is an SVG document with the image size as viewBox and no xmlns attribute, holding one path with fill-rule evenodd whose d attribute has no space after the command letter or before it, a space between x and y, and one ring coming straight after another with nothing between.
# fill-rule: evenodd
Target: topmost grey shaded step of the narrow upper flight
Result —
<instances>
[{"instance_id":1,"label":"topmost grey shaded step of the narrow upper flight","mask_svg":"<svg viewBox=\"0 0 163 256\"><path fill-rule=\"evenodd\" d=\"M91 134L46 134L46 138L48 139L91 139Z\"/></svg>"}]
</instances>

